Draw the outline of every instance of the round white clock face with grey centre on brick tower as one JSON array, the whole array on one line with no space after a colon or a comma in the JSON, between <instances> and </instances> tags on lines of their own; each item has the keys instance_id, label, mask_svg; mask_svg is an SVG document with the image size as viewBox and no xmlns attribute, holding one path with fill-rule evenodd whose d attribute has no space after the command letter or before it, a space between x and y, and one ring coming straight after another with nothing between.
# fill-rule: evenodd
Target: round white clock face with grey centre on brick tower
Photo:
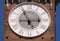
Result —
<instances>
[{"instance_id":1,"label":"round white clock face with grey centre on brick tower","mask_svg":"<svg viewBox=\"0 0 60 41\"><path fill-rule=\"evenodd\" d=\"M50 25L50 14L47 9L37 3L21 3L9 13L10 28L18 35L35 37L43 34Z\"/></svg>"}]
</instances>

